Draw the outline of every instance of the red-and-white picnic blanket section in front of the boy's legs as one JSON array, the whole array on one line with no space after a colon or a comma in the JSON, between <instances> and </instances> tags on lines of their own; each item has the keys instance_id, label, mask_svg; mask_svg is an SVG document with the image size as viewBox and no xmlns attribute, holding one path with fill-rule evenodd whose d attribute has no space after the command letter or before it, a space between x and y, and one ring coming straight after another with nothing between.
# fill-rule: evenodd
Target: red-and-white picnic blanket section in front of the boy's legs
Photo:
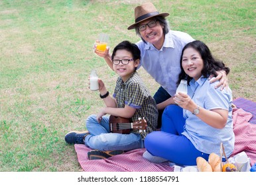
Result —
<instances>
[{"instance_id":1,"label":"red-and-white picnic blanket section in front of the boy's legs","mask_svg":"<svg viewBox=\"0 0 256 185\"><path fill-rule=\"evenodd\" d=\"M166 163L150 163L142 157L145 149L134 149L109 159L89 160L90 151L85 145L75 145L78 161L86 172L172 172L174 167Z\"/></svg>"}]
</instances>

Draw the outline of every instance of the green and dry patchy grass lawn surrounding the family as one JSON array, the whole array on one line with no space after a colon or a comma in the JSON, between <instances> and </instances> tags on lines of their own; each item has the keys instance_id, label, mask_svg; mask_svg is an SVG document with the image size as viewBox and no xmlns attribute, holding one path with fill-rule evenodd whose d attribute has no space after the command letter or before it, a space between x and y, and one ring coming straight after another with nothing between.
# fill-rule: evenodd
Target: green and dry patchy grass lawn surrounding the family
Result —
<instances>
[{"instance_id":1,"label":"green and dry patchy grass lawn surrounding the family","mask_svg":"<svg viewBox=\"0 0 256 185\"><path fill-rule=\"evenodd\" d=\"M210 46L231 68L233 98L255 97L255 9L247 1L152 1L173 30ZM101 32L109 46L139 40L127 27L137 1L0 1L0 171L81 171L64 135L84 130L103 106L88 89L94 68L110 92L117 76L92 46ZM104 7L104 9L102 9ZM159 85L143 69L151 90Z\"/></svg>"}]
</instances>

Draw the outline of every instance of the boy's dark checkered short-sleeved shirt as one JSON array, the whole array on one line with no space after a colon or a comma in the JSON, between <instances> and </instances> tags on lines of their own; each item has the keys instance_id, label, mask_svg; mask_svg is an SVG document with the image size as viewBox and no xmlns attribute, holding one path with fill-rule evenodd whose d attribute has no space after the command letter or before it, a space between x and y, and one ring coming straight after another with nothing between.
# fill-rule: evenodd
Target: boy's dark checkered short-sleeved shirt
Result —
<instances>
[{"instance_id":1,"label":"boy's dark checkered short-sleeved shirt","mask_svg":"<svg viewBox=\"0 0 256 185\"><path fill-rule=\"evenodd\" d=\"M121 77L117 79L115 98L119 108L124 108L125 105L136 108L131 122L137 122L138 118L147 120L146 132L139 132L139 130L134 130L133 132L140 133L144 139L147 133L155 131L158 118L157 104L136 71L125 83L123 83Z\"/></svg>"}]
</instances>

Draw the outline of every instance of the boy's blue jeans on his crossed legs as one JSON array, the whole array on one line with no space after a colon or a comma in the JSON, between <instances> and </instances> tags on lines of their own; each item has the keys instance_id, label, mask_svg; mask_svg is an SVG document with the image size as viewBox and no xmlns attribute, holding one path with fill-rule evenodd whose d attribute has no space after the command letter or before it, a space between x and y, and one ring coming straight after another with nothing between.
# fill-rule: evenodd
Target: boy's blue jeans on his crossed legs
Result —
<instances>
[{"instance_id":1,"label":"boy's blue jeans on his crossed legs","mask_svg":"<svg viewBox=\"0 0 256 185\"><path fill-rule=\"evenodd\" d=\"M90 135L86 136L85 144L92 149L129 151L144 147L139 133L109 133L109 116L103 116L100 123L97 122L95 114L89 116L86 120L86 128Z\"/></svg>"}]
</instances>

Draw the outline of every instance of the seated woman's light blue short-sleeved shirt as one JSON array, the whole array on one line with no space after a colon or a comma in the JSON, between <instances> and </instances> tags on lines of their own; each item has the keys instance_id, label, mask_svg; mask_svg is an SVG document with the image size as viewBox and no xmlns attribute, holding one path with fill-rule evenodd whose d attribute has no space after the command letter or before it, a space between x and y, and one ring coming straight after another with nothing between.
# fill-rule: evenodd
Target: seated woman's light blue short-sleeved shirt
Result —
<instances>
[{"instance_id":1,"label":"seated woman's light blue short-sleeved shirt","mask_svg":"<svg viewBox=\"0 0 256 185\"><path fill-rule=\"evenodd\" d=\"M207 78L201 77L198 81L190 81L188 86L188 95L198 104L198 106L206 110L221 108L228 110L227 124L224 128L218 129L204 123L196 115L188 110L183 110L183 116L186 118L184 132L182 133L199 151L203 153L212 153L212 151L220 151L220 143L224 144L225 153L231 155L235 143L235 135L233 133L232 120L232 93L231 89L220 88L215 89L218 83L210 83ZM220 155L220 153L218 154Z\"/></svg>"}]
</instances>

